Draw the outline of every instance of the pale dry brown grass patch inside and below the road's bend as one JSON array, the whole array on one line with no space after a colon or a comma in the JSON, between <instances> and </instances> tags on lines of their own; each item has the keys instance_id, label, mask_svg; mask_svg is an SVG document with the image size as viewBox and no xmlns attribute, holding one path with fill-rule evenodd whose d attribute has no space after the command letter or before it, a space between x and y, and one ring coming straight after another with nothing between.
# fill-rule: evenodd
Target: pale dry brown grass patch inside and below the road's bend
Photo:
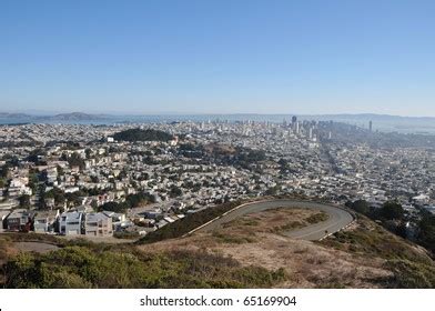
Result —
<instances>
[{"instance_id":1,"label":"pale dry brown grass patch inside and below the road's bend","mask_svg":"<svg viewBox=\"0 0 435 311\"><path fill-rule=\"evenodd\" d=\"M312 210L269 210L242 217L210 233L139 247L144 252L162 250L208 250L237 260L243 265L269 270L285 269L290 279L281 288L378 288L392 277L384 261L354 254L310 241L279 234L275 227L293 221L306 225L318 214ZM271 228L274 223L274 228ZM250 239L250 240L246 240Z\"/></svg>"}]
</instances>

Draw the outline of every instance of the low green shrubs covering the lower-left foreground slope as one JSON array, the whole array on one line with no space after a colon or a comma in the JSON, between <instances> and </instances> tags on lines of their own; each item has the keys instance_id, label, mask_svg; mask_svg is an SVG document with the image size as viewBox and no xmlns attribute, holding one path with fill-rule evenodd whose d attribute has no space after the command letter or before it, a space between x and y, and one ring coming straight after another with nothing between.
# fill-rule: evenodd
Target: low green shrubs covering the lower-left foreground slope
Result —
<instances>
[{"instance_id":1,"label":"low green shrubs covering the lower-left foreground slope","mask_svg":"<svg viewBox=\"0 0 435 311\"><path fill-rule=\"evenodd\" d=\"M2 270L6 288L42 289L263 288L287 278L283 269L243 267L206 251L145 253L131 245L87 242L45 254L19 253L9 258Z\"/></svg>"}]
</instances>

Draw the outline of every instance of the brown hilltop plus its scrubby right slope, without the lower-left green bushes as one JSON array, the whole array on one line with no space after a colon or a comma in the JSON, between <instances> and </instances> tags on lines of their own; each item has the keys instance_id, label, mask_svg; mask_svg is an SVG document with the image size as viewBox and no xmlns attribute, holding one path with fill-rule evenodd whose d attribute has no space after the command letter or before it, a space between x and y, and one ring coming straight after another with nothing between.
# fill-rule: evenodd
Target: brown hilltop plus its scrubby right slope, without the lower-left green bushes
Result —
<instances>
[{"instance_id":1,"label":"brown hilltop plus its scrubby right slope, without the lower-left green bushes","mask_svg":"<svg viewBox=\"0 0 435 311\"><path fill-rule=\"evenodd\" d=\"M141 245L155 250L201 250L249 267L283 269L283 288L433 288L435 262L428 252L360 217L345 231L321 242L293 240L280 229L301 228L317 213L272 210L244 215L211 233ZM317 215L318 217L318 215ZM292 219L286 221L285 219ZM322 217L320 218L322 219ZM281 223L271 225L271 220Z\"/></svg>"}]
</instances>

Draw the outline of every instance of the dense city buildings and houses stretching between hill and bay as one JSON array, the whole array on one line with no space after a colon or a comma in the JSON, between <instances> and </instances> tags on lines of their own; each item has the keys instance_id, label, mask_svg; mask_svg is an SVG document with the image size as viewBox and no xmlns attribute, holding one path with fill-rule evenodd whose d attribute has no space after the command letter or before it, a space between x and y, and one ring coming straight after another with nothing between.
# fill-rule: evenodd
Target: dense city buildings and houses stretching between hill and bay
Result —
<instances>
[{"instance_id":1,"label":"dense city buildings and houses stretching between hill and bay","mask_svg":"<svg viewBox=\"0 0 435 311\"><path fill-rule=\"evenodd\" d=\"M373 143L387 136L296 117L1 126L1 230L139 237L216 204L274 194L372 207L397 200L409 215L434 212L433 148Z\"/></svg>"}]
</instances>

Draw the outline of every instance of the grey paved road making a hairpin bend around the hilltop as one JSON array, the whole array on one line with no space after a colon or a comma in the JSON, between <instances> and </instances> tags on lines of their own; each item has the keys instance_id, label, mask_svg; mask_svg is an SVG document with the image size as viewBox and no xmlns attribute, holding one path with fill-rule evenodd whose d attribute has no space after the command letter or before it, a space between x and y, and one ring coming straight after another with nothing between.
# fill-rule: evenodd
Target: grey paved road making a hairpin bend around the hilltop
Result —
<instances>
[{"instance_id":1,"label":"grey paved road making a hairpin bend around the hilltop","mask_svg":"<svg viewBox=\"0 0 435 311\"><path fill-rule=\"evenodd\" d=\"M303 209L314 209L321 210L330 215L326 221L322 221L315 224L311 224L301 229L283 232L282 234L307 241L316 241L330 233L334 233L346 227L353 221L353 217L350 212L342 210L340 208L315 203L315 202L304 202L304 201L293 201L293 200L275 200L275 201L263 201L253 202L242 205L241 208L222 215L221 218L208 223L206 225L199 229L199 232L211 231L220 228L223 223L230 222L239 217L249 213L261 212L270 209L276 208L303 208Z\"/></svg>"}]
</instances>

